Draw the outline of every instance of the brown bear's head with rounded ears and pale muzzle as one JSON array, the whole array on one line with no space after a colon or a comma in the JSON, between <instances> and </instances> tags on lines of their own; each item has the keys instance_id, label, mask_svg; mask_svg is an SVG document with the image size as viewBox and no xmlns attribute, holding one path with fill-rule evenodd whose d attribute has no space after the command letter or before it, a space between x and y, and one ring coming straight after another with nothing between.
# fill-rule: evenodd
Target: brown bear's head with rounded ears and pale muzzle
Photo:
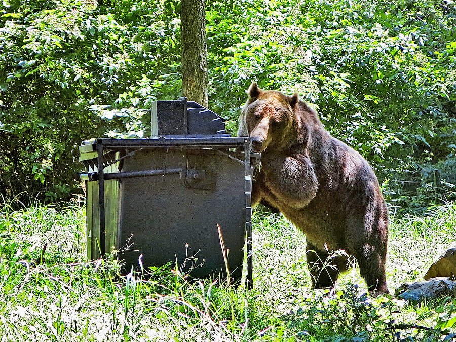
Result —
<instances>
[{"instance_id":1,"label":"brown bear's head with rounded ears and pale muzzle","mask_svg":"<svg viewBox=\"0 0 456 342\"><path fill-rule=\"evenodd\" d=\"M267 148L284 150L297 141L299 135L296 107L301 104L298 94L285 95L275 90L262 90L252 82L247 93L242 117L255 152Z\"/></svg>"}]
</instances>

